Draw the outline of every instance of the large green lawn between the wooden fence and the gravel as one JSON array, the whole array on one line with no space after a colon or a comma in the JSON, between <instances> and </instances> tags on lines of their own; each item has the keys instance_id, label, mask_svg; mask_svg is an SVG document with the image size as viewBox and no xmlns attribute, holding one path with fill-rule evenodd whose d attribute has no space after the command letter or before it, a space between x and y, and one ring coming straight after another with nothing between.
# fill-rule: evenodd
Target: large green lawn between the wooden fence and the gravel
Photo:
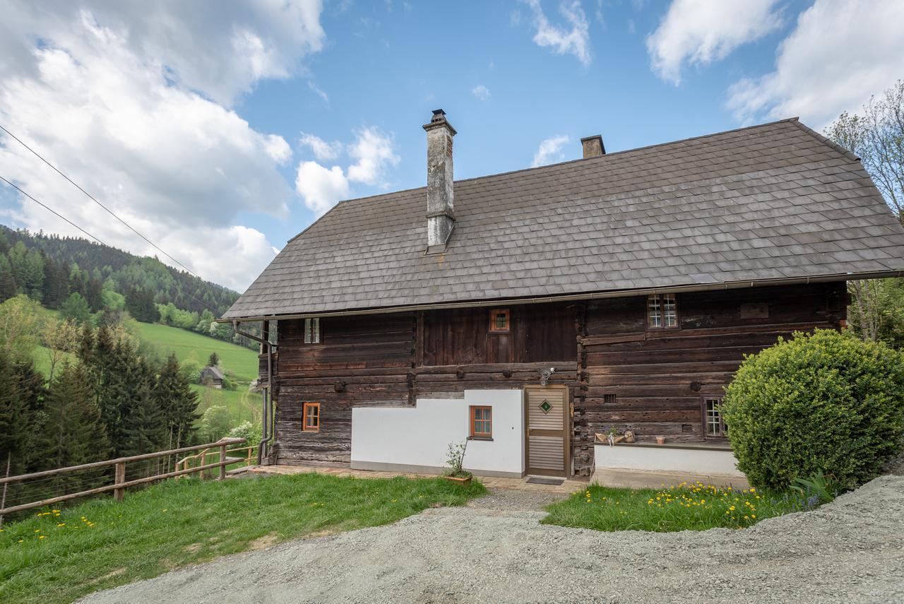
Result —
<instances>
[{"instance_id":1,"label":"large green lawn between the wooden fence and the gravel","mask_svg":"<svg viewBox=\"0 0 904 604\"><path fill-rule=\"evenodd\" d=\"M96 590L155 577L288 539L389 524L485 493L441 478L318 474L169 481L34 515L0 533L0 601L71 602Z\"/></svg>"}]
</instances>

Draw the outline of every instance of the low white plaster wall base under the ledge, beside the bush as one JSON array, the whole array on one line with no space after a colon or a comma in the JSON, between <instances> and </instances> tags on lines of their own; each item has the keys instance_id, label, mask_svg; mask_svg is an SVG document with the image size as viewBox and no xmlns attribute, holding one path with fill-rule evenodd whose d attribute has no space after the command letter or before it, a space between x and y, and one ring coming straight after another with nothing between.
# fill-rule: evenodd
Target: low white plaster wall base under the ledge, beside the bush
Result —
<instances>
[{"instance_id":1,"label":"low white plaster wall base under the ledge, beside the bush","mask_svg":"<svg viewBox=\"0 0 904 604\"><path fill-rule=\"evenodd\" d=\"M594 445L594 465L598 470L632 469L744 477L736 467L737 463L734 453L725 449Z\"/></svg>"}]
</instances>

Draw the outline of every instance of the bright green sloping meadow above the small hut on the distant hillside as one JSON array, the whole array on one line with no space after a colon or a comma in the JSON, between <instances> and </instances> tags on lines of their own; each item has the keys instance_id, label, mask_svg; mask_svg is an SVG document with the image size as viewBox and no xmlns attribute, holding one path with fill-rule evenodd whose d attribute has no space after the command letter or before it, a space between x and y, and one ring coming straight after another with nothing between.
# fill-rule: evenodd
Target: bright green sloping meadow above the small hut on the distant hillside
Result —
<instances>
[{"instance_id":1,"label":"bright green sloping meadow above the small hut on the distant hillside","mask_svg":"<svg viewBox=\"0 0 904 604\"><path fill-rule=\"evenodd\" d=\"M203 365L211 353L216 353L220 366L235 373L236 379L245 383L258 379L258 354L250 348L155 323L138 323L138 337L154 344L164 354L174 352L179 363L193 358Z\"/></svg>"}]
</instances>

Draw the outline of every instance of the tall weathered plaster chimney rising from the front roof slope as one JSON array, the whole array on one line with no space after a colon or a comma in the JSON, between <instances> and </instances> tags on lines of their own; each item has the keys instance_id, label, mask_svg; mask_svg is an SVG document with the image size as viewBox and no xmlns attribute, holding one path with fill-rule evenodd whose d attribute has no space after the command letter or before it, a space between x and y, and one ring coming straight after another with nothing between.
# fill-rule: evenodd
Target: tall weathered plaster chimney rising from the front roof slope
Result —
<instances>
[{"instance_id":1,"label":"tall weathered plaster chimney rising from the front roof slope","mask_svg":"<svg viewBox=\"0 0 904 604\"><path fill-rule=\"evenodd\" d=\"M436 109L427 130L427 245L428 251L445 249L455 226L452 183L452 137L456 131L446 112Z\"/></svg>"}]
</instances>

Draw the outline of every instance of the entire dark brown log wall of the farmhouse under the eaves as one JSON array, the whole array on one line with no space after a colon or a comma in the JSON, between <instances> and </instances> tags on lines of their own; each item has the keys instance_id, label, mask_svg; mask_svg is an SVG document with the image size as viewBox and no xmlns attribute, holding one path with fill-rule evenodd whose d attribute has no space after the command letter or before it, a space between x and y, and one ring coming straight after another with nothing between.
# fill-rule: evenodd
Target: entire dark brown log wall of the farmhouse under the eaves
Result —
<instances>
[{"instance_id":1,"label":"entire dark brown log wall of the farmhouse under the eaves","mask_svg":"<svg viewBox=\"0 0 904 604\"><path fill-rule=\"evenodd\" d=\"M674 330L645 328L645 297L509 307L504 335L489 333L488 308L324 317L321 344L304 344L304 321L280 321L277 460L348 463L353 406L523 388L553 366L550 383L570 388L573 467L586 477L594 433L613 425L645 440L702 439L702 398L723 392L743 355L839 326L844 292L831 283L680 294ZM318 433L301 429L305 401L321 403Z\"/></svg>"}]
</instances>

